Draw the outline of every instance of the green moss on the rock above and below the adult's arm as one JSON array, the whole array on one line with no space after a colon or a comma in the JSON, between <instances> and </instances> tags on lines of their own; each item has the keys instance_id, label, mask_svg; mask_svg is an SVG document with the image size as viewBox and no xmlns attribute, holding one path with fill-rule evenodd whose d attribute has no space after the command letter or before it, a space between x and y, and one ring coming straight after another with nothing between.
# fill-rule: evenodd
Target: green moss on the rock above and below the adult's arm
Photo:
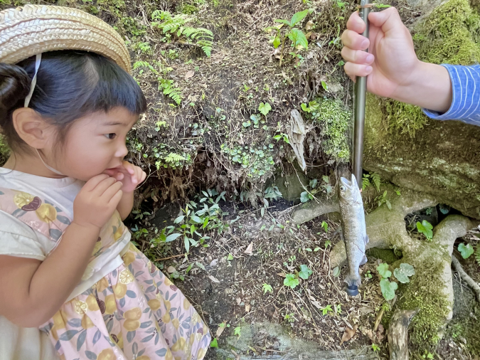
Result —
<instances>
[{"instance_id":1,"label":"green moss on the rock above and below the adult's arm","mask_svg":"<svg viewBox=\"0 0 480 360\"><path fill-rule=\"evenodd\" d=\"M435 64L471 65L478 63L480 60L479 24L479 15L472 11L468 0L447 1L434 9L432 14L415 29L413 41L418 58ZM377 125L380 122L383 124L382 128L386 127L390 139L398 139L405 134L415 137L415 133L427 125L429 120L420 107L395 100L377 99L375 104L370 98L367 107L369 116L366 119L368 122L372 121L370 116L373 115L373 121ZM372 109L371 107L376 108ZM379 121L379 114L383 114L383 120ZM367 128L370 127L370 132L373 126L374 124L367 125ZM385 142L379 141L377 137L370 139L377 144L385 145Z\"/></svg>"}]
</instances>

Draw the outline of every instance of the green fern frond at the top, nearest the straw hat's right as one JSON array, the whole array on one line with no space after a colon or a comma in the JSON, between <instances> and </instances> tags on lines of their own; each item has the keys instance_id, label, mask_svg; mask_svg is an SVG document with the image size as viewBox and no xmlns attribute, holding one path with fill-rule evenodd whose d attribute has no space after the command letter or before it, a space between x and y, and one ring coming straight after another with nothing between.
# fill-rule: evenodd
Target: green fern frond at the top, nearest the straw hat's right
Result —
<instances>
[{"instance_id":1,"label":"green fern frond at the top, nearest the straw hat's right","mask_svg":"<svg viewBox=\"0 0 480 360\"><path fill-rule=\"evenodd\" d=\"M161 29L164 33L173 33L177 38L186 38L187 42L192 42L200 47L208 57L213 47L213 33L206 28L191 28L186 23L193 21L183 14L172 16L168 11L155 10L151 14L152 27Z\"/></svg>"}]
</instances>

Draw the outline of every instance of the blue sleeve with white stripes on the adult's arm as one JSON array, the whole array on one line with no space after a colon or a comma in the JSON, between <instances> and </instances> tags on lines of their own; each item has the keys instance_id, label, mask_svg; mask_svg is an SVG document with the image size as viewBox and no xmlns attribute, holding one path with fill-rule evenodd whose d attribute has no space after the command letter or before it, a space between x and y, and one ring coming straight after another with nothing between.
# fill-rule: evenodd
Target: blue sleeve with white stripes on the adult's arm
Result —
<instances>
[{"instance_id":1,"label":"blue sleeve with white stripes on the adult's arm","mask_svg":"<svg viewBox=\"0 0 480 360\"><path fill-rule=\"evenodd\" d=\"M442 64L452 80L452 105L440 114L423 109L434 120L461 120L480 126L480 65L462 66Z\"/></svg>"}]
</instances>

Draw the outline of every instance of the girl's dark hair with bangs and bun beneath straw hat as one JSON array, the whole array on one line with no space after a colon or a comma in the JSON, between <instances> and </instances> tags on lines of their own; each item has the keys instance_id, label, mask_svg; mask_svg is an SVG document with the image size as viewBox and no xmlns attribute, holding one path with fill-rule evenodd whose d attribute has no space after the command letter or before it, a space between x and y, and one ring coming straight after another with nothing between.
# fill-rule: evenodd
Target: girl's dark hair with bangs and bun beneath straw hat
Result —
<instances>
[{"instance_id":1,"label":"girl's dark hair with bangs and bun beneath straw hat","mask_svg":"<svg viewBox=\"0 0 480 360\"><path fill-rule=\"evenodd\" d=\"M0 129L11 149L26 147L12 115L23 107L35 73L35 56L9 65L0 63ZM37 83L28 105L58 129L59 142L80 117L125 107L134 115L146 111L137 82L112 60L86 51L42 54Z\"/></svg>"}]
</instances>

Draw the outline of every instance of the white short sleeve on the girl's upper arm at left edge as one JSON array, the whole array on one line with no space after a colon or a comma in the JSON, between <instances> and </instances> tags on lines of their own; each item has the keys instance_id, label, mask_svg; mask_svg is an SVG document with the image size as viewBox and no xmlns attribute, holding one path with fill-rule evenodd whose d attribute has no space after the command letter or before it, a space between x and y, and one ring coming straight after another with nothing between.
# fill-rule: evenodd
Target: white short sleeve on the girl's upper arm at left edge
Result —
<instances>
[{"instance_id":1,"label":"white short sleeve on the girl's upper arm at left edge","mask_svg":"<svg viewBox=\"0 0 480 360\"><path fill-rule=\"evenodd\" d=\"M0 255L43 261L47 253L41 245L41 236L26 223L0 211Z\"/></svg>"}]
</instances>

